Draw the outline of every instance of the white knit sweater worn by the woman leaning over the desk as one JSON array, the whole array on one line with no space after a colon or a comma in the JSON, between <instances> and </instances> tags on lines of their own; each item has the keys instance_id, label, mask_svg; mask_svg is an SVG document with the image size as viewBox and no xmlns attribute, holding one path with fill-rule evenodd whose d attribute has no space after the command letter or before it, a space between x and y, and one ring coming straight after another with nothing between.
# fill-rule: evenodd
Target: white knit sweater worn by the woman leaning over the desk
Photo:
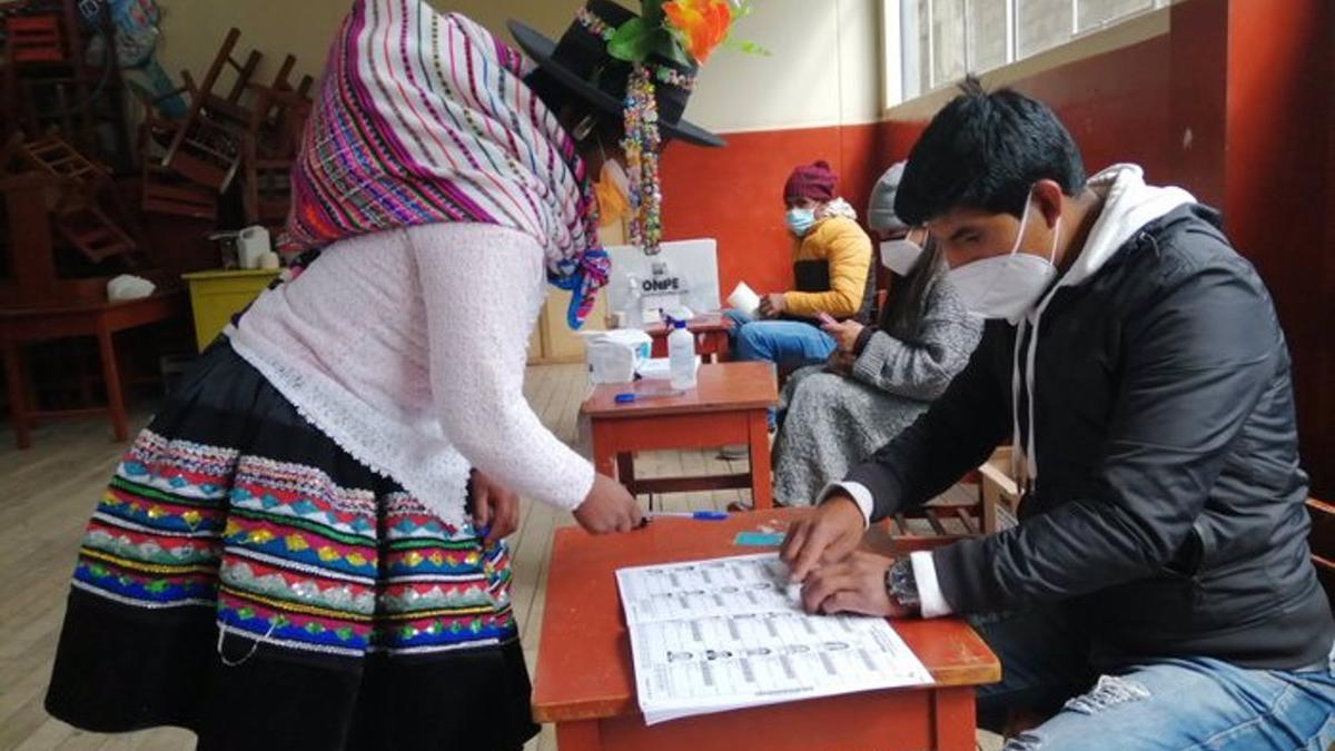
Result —
<instances>
[{"instance_id":1,"label":"white knit sweater worn by the woman leaning over the desk","mask_svg":"<svg viewBox=\"0 0 1335 751\"><path fill-rule=\"evenodd\" d=\"M427 224L331 245L266 291L232 346L316 428L449 524L469 469L574 509L593 466L523 397L546 294L542 247L491 224Z\"/></svg>"}]
</instances>

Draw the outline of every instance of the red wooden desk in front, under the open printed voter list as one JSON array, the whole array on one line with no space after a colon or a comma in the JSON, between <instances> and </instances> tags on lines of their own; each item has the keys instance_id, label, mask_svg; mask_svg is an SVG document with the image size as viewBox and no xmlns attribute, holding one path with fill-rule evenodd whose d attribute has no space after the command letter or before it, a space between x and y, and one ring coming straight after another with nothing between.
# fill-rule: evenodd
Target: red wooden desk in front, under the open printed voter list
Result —
<instances>
[{"instance_id":1,"label":"red wooden desk in front, under the open printed voter list","mask_svg":"<svg viewBox=\"0 0 1335 751\"><path fill-rule=\"evenodd\" d=\"M737 548L733 537L760 524L784 527L804 513L808 509L750 512L716 522L661 518L646 529L605 537L578 528L558 529L533 712L537 722L555 723L561 751L972 751L973 687L1000 680L1001 667L977 633L957 619L894 623L936 679L933 686L645 726L635 702L630 637L613 572L629 565L764 552ZM882 531L877 535L882 543L888 540Z\"/></svg>"}]
</instances>

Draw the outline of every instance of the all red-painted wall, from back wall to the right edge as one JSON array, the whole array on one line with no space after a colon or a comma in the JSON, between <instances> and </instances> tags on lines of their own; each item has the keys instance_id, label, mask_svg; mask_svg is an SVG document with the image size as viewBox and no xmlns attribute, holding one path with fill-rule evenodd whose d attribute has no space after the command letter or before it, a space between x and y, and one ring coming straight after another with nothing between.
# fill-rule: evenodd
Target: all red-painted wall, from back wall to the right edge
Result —
<instances>
[{"instance_id":1,"label":"all red-painted wall, from back wall to the right edge","mask_svg":"<svg viewBox=\"0 0 1335 751\"><path fill-rule=\"evenodd\" d=\"M1335 3L1187 0L1171 12L1168 35L1013 87L1057 111L1091 174L1136 162L1151 183L1180 184L1223 210L1288 335L1312 493L1335 498ZM724 150L676 147L662 168L665 235L718 238L725 295L741 279L784 289L789 170L828 159L862 211L874 179L922 127L729 134Z\"/></svg>"}]
</instances>

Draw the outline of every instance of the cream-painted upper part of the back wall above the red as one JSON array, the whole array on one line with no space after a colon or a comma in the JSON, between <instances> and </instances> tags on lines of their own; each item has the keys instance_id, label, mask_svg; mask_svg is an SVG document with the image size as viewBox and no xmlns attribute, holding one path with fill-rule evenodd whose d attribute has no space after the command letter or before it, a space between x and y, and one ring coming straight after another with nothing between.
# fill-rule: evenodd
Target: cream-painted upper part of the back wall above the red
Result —
<instances>
[{"instance_id":1,"label":"cream-painted upper part of the back wall above the red","mask_svg":"<svg viewBox=\"0 0 1335 751\"><path fill-rule=\"evenodd\" d=\"M635 8L633 0L619 0ZM176 78L196 78L230 27L242 48L266 55L260 80L287 53L296 75L319 75L328 43L351 3L346 0L159 0L164 33L159 59ZM505 21L518 17L559 35L579 0L431 0L441 11L467 13L510 39ZM882 111L880 0L754 0L736 35L773 56L720 49L710 59L686 116L720 132L876 122ZM894 41L897 44L897 41Z\"/></svg>"}]
</instances>

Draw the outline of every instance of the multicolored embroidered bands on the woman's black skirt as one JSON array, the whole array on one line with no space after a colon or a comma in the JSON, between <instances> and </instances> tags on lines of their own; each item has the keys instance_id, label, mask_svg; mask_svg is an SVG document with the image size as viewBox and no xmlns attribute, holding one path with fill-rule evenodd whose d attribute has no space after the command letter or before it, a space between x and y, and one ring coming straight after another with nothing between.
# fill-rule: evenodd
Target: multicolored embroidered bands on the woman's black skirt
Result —
<instances>
[{"instance_id":1,"label":"multicolored embroidered bands on the woman's black skirt","mask_svg":"<svg viewBox=\"0 0 1335 751\"><path fill-rule=\"evenodd\" d=\"M140 433L89 522L75 587L211 607L246 641L346 656L517 636L510 556L411 496L320 469Z\"/></svg>"}]
</instances>

